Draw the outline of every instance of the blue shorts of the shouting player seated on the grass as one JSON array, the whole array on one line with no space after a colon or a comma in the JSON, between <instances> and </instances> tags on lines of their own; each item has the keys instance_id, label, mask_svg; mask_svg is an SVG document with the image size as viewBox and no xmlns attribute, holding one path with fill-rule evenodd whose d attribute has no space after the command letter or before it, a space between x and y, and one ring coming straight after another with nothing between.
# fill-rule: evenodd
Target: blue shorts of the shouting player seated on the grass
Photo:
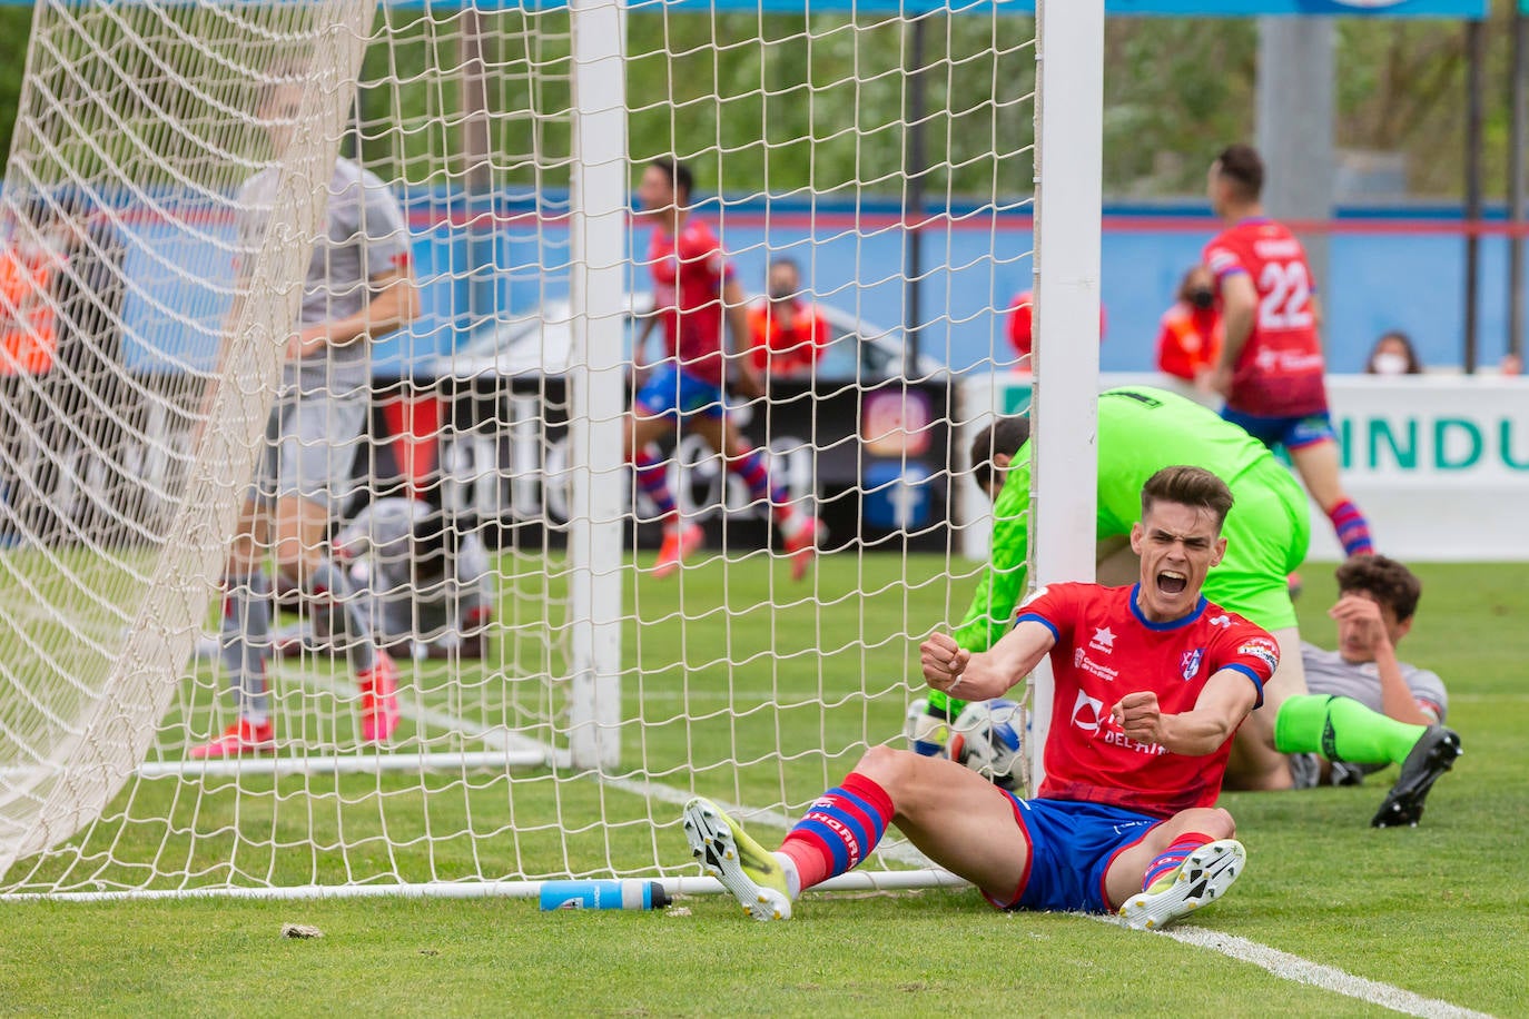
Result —
<instances>
[{"instance_id":1,"label":"blue shorts of the shouting player seated on the grass","mask_svg":"<svg viewBox=\"0 0 1529 1019\"><path fill-rule=\"evenodd\" d=\"M1024 888L998 909L1112 912L1104 875L1125 849L1162 823L1135 810L1067 799L1014 801L1014 820L1031 842Z\"/></svg>"}]
</instances>

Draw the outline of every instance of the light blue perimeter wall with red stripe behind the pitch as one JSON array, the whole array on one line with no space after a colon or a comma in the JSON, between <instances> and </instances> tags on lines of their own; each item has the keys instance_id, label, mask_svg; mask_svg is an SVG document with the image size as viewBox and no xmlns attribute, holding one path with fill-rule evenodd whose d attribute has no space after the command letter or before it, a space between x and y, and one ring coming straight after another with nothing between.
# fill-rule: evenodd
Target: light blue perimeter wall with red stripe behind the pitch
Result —
<instances>
[{"instance_id":1,"label":"light blue perimeter wall with red stripe behind the pitch","mask_svg":"<svg viewBox=\"0 0 1529 1019\"><path fill-rule=\"evenodd\" d=\"M375 347L378 373L408 374L411 365L450 353L485 315L518 318L544 301L566 298L569 235L560 199L543 197L538 205L505 194L474 217L460 199L410 196L425 315L407 335ZM956 370L1009 359L1003 321L994 309L1008 307L1015 293L1031 287L1027 212L1017 203L998 212L957 209L927 222L920 284L927 354ZM705 203L697 215L717 228L746 292L763 289L772 255L789 255L801 264L804 286L818 301L858 312L876 325L911 325L905 322L905 229L894 205L729 199ZM130 362L206 367L206 336L187 325L208 328L220 321L222 309L188 281L231 280L229 254L219 243L232 235L231 223L209 218L191 238L147 215L130 215L128 223L128 275L144 296L130 299L125 313L130 328L145 339L130 348ZM1105 371L1151 370L1157 319L1216 226L1203 206L1193 203L1105 208ZM1362 370L1372 342L1388 328L1408 332L1430 367L1460 364L1466 231L1456 209L1341 209L1313 226L1330 243L1330 278L1321 298L1332 371ZM1506 348L1505 226L1497 212L1482 237L1483 365L1494 365ZM635 226L627 255L641 257L647 238L648 229ZM469 272L472 266L479 269ZM645 270L635 269L633 280L633 289L648 289Z\"/></svg>"}]
</instances>

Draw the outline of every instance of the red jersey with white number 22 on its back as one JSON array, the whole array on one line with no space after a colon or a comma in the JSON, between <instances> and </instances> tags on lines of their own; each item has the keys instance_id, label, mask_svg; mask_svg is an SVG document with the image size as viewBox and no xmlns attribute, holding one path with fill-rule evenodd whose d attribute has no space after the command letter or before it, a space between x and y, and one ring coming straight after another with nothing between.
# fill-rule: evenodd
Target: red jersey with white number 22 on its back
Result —
<instances>
[{"instance_id":1,"label":"red jersey with white number 22 on its back","mask_svg":"<svg viewBox=\"0 0 1529 1019\"><path fill-rule=\"evenodd\" d=\"M1326 411L1312 269L1301 241L1280 223L1254 217L1222 231L1205 246L1203 260L1217 284L1246 272L1258 292L1252 333L1237 356L1226 406L1260 417Z\"/></svg>"}]
</instances>

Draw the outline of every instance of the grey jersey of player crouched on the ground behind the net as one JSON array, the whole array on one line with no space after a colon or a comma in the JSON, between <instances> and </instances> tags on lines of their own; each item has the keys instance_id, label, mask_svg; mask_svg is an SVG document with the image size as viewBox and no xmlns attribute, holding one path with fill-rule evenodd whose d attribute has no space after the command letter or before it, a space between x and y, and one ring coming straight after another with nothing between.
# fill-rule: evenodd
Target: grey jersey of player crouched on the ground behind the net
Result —
<instances>
[{"instance_id":1,"label":"grey jersey of player crouched on the ground behind the net","mask_svg":"<svg viewBox=\"0 0 1529 1019\"><path fill-rule=\"evenodd\" d=\"M425 600L417 593L410 559L413 548L410 536L416 519L431 512L430 504L410 498L385 498L368 504L335 538L335 545L347 556L365 555L372 565L368 587L379 596L410 594ZM468 533L457 539L456 570L443 585L430 591L433 602L454 605L466 613L489 603L488 552L477 535Z\"/></svg>"}]
</instances>

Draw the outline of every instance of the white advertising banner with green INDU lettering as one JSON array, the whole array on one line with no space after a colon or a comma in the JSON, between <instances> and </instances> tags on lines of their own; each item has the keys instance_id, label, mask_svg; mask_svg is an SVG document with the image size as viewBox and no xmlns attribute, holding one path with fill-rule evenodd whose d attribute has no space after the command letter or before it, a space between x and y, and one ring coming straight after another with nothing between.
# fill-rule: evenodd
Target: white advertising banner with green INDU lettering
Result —
<instances>
[{"instance_id":1,"label":"white advertising banner with green INDU lettering","mask_svg":"<svg viewBox=\"0 0 1529 1019\"><path fill-rule=\"evenodd\" d=\"M1131 383L1164 385L1157 376L1101 377L1102 388ZM1379 552L1416 562L1529 562L1529 379L1330 376L1327 396L1344 486ZM1029 405L1029 380L976 379L963 397L962 451L994 412ZM960 493L963 552L983 558L986 500L971 483ZM1342 558L1316 506L1310 558Z\"/></svg>"}]
</instances>

